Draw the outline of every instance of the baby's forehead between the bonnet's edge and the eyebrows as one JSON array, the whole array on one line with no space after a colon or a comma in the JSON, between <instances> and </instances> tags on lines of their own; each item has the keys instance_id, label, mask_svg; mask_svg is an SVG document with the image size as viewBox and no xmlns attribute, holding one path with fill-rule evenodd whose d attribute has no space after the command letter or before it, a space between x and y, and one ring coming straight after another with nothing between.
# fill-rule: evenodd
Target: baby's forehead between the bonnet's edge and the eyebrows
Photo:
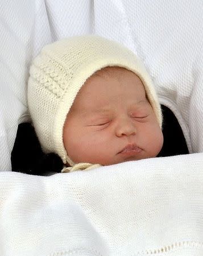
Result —
<instances>
[{"instance_id":1,"label":"baby's forehead between the bonnet's edge and the eyebrows","mask_svg":"<svg viewBox=\"0 0 203 256\"><path fill-rule=\"evenodd\" d=\"M85 81L73 105L76 103L77 105L89 105L89 102L96 102L98 105L102 99L112 101L112 97L117 99L125 97L125 101L131 98L138 100L138 98L146 98L146 92L142 81L134 72L122 67L105 67Z\"/></svg>"}]
</instances>

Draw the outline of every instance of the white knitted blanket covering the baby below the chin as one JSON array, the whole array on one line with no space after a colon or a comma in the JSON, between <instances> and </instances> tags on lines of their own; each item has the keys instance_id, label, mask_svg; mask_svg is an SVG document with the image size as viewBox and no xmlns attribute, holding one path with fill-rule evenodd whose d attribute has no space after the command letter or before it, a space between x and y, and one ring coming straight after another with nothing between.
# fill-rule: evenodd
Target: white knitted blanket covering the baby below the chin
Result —
<instances>
[{"instance_id":1,"label":"white knitted blanket covering the baby below the chin","mask_svg":"<svg viewBox=\"0 0 203 256\"><path fill-rule=\"evenodd\" d=\"M0 180L0 255L203 255L203 153Z\"/></svg>"}]
</instances>

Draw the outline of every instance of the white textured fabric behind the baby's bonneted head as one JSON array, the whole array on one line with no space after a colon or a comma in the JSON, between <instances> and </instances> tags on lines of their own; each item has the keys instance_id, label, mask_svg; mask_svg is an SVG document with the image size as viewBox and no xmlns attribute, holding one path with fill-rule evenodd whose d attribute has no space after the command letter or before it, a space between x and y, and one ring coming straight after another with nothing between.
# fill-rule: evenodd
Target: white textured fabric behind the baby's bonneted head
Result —
<instances>
[{"instance_id":1,"label":"white textured fabric behind the baby's bonneted head","mask_svg":"<svg viewBox=\"0 0 203 256\"><path fill-rule=\"evenodd\" d=\"M161 104L176 115L190 152L203 148L201 0L8 0L0 1L0 170L27 113L28 69L48 43L98 34L125 44L151 73Z\"/></svg>"}]
</instances>

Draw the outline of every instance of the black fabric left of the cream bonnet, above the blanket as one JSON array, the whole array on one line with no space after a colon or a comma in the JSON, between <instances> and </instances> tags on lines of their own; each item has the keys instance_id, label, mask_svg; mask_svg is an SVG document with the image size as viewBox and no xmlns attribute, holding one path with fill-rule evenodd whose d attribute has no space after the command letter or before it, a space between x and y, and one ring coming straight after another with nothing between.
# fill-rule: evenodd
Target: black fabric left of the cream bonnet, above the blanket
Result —
<instances>
[{"instance_id":1,"label":"black fabric left of the cream bonnet, above the blanket","mask_svg":"<svg viewBox=\"0 0 203 256\"><path fill-rule=\"evenodd\" d=\"M11 152L12 171L32 175L61 172L63 162L55 153L44 154L31 123L20 123Z\"/></svg>"}]
</instances>

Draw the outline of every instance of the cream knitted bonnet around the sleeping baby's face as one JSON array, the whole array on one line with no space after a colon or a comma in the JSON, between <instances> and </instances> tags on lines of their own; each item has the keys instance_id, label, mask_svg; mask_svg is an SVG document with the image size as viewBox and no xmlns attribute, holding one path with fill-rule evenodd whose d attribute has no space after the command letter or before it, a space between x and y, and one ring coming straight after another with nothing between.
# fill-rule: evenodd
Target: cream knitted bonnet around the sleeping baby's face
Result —
<instances>
[{"instance_id":1,"label":"cream knitted bonnet around the sleeping baby's face","mask_svg":"<svg viewBox=\"0 0 203 256\"><path fill-rule=\"evenodd\" d=\"M42 150L55 152L74 166L63 144L63 126L74 98L86 79L107 66L136 73L161 127L161 109L154 85L142 62L121 44L100 36L74 36L45 46L31 65L28 108Z\"/></svg>"}]
</instances>

